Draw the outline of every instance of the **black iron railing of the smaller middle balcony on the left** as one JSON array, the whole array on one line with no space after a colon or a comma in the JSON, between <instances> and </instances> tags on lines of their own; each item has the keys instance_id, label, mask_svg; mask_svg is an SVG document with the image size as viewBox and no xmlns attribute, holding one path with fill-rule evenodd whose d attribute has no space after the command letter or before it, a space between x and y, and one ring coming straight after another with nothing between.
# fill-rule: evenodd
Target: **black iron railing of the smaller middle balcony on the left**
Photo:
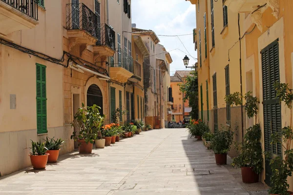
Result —
<instances>
[{"instance_id":1,"label":"black iron railing of the smaller middle balcony on the left","mask_svg":"<svg viewBox=\"0 0 293 195\"><path fill-rule=\"evenodd\" d=\"M115 31L107 24L98 24L98 41L96 45L107 45L115 50Z\"/></svg>"}]
</instances>

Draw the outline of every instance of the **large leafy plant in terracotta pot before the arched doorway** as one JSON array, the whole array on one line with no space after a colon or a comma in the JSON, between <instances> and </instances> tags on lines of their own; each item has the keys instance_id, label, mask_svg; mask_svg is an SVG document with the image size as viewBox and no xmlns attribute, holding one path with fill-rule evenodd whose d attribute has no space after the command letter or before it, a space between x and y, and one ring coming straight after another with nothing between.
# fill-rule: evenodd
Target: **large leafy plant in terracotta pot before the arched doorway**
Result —
<instances>
[{"instance_id":1,"label":"large leafy plant in terracotta pot before the arched doorway","mask_svg":"<svg viewBox=\"0 0 293 195\"><path fill-rule=\"evenodd\" d=\"M100 115L97 105L91 107L79 108L77 113L74 116L74 121L71 124L77 124L80 127L80 132L77 133L74 131L71 135L71 139L79 142L79 153L80 154L91 154L94 140L98 136L98 129L100 129L101 124L104 121L104 117Z\"/></svg>"}]
</instances>

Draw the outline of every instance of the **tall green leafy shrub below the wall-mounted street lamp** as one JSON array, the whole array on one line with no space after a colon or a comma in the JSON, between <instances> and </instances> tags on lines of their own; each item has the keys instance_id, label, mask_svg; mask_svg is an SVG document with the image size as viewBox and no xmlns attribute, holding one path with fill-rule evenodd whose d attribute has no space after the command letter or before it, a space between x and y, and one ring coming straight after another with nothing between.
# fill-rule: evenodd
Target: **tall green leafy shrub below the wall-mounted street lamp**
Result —
<instances>
[{"instance_id":1,"label":"tall green leafy shrub below the wall-mounted street lamp","mask_svg":"<svg viewBox=\"0 0 293 195\"><path fill-rule=\"evenodd\" d=\"M180 91L185 95L184 102L188 100L191 118L198 118L198 80L197 72L191 71L190 75L185 78L184 83L179 83Z\"/></svg>"}]
</instances>

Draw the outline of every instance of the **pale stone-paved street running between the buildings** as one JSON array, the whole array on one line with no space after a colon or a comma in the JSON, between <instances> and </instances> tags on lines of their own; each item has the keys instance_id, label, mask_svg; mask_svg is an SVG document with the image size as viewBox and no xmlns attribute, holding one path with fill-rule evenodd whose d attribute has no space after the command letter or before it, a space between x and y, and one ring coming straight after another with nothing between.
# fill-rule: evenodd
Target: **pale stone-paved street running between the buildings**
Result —
<instances>
[{"instance_id":1,"label":"pale stone-paved street running between the buildings","mask_svg":"<svg viewBox=\"0 0 293 195\"><path fill-rule=\"evenodd\" d=\"M91 155L74 152L59 160L45 171L30 167L2 177L0 195L251 194L186 129L142 132Z\"/></svg>"}]
</instances>

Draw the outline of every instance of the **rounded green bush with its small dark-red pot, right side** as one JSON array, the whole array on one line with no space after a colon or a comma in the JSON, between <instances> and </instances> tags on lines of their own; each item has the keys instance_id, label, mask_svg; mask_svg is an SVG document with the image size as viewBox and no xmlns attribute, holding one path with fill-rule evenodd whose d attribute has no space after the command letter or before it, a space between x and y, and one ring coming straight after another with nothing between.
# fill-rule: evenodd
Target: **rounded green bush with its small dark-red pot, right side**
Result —
<instances>
[{"instance_id":1,"label":"rounded green bush with its small dark-red pot, right side","mask_svg":"<svg viewBox=\"0 0 293 195\"><path fill-rule=\"evenodd\" d=\"M215 153L215 159L217 165L227 164L227 153L230 150L234 133L224 126L221 126L221 130L218 130L210 142L210 146Z\"/></svg>"}]
</instances>

